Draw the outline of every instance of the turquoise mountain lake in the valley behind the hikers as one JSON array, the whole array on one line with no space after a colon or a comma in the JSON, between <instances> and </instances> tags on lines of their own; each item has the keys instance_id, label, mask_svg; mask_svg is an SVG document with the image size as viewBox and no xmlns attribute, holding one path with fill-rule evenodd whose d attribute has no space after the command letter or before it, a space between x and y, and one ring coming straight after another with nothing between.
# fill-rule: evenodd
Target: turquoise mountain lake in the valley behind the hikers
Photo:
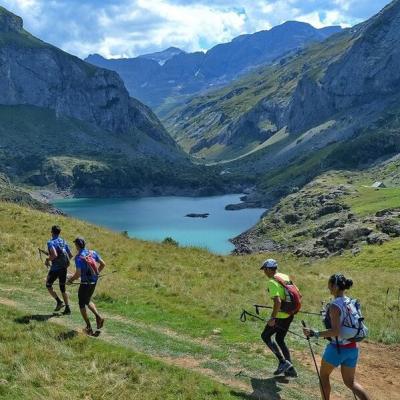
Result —
<instances>
[{"instance_id":1,"label":"turquoise mountain lake in the valley behind the hikers","mask_svg":"<svg viewBox=\"0 0 400 400\"><path fill-rule=\"evenodd\" d=\"M230 238L255 225L261 208L226 211L242 195L213 197L146 197L141 199L67 199L54 205L70 216L127 231L130 237L162 241L172 237L181 246L204 247L218 254L234 249ZM185 217L209 213L208 218ZM79 232L84 234L84 232Z\"/></svg>"}]
</instances>

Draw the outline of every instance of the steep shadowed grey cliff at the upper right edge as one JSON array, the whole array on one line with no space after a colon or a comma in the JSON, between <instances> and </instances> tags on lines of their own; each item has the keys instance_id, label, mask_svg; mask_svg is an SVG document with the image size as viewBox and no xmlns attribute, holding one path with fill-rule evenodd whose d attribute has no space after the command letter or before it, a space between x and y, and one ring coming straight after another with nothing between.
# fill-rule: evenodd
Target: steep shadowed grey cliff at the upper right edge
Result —
<instances>
[{"instance_id":1,"label":"steep shadowed grey cliff at the upper right edge","mask_svg":"<svg viewBox=\"0 0 400 400\"><path fill-rule=\"evenodd\" d=\"M294 93L288 124L301 132L335 113L376 101L400 89L400 2L353 29L354 43L319 79L304 76Z\"/></svg>"}]
</instances>

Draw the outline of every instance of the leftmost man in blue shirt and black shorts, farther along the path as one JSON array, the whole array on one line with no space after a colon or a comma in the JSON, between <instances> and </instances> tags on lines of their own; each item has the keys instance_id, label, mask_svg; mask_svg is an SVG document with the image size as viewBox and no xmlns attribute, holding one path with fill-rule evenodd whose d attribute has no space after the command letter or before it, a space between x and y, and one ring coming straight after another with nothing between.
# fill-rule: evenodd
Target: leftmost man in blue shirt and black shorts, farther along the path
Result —
<instances>
[{"instance_id":1,"label":"leftmost man in blue shirt and black shorts, farther along the path","mask_svg":"<svg viewBox=\"0 0 400 400\"><path fill-rule=\"evenodd\" d=\"M68 294L65 290L65 283L67 280L69 260L72 258L72 254L67 242L60 237L60 233L61 228L58 225L52 226L52 238L47 242L48 257L45 261L46 266L50 268L47 274L46 287L51 297L57 301L54 311L60 311L61 308L65 306L63 314L69 315L71 314L71 309L69 307ZM64 302L61 301L53 289L53 283L57 279Z\"/></svg>"}]
</instances>

